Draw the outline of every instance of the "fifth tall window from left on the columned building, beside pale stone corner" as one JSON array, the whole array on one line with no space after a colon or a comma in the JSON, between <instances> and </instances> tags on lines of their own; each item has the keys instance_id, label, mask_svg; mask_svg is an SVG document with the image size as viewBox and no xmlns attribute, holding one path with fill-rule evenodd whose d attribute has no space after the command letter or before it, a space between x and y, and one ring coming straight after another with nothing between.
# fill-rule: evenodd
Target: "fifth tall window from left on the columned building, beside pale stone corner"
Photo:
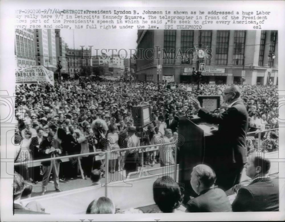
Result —
<instances>
[{"instance_id":1,"label":"fifth tall window from left on the columned building, beside pale stone corner","mask_svg":"<svg viewBox=\"0 0 285 222\"><path fill-rule=\"evenodd\" d=\"M235 30L233 64L243 65L245 55L245 30Z\"/></svg>"}]
</instances>

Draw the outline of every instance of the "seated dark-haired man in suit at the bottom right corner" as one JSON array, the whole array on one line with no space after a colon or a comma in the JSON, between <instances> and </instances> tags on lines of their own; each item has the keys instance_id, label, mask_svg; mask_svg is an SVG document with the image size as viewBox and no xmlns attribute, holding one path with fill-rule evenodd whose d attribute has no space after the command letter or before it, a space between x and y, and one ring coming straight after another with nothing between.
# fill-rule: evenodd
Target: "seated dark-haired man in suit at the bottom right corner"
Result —
<instances>
[{"instance_id":1,"label":"seated dark-haired man in suit at the bottom right corner","mask_svg":"<svg viewBox=\"0 0 285 222\"><path fill-rule=\"evenodd\" d=\"M264 153L253 152L247 157L246 174L252 181L241 187L232 203L233 211L279 211L278 179L268 178L270 161ZM237 186L230 190L236 190ZM229 191L227 191L230 194Z\"/></svg>"}]
</instances>

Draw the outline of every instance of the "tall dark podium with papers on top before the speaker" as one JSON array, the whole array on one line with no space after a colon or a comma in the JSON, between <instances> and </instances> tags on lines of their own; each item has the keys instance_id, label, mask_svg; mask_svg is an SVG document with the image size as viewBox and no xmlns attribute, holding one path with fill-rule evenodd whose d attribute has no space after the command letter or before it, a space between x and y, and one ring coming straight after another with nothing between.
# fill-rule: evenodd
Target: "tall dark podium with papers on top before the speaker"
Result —
<instances>
[{"instance_id":1,"label":"tall dark podium with papers on top before the speaker","mask_svg":"<svg viewBox=\"0 0 285 222\"><path fill-rule=\"evenodd\" d=\"M215 168L215 150L218 145L210 132L211 127L217 126L198 117L179 117L178 134L184 138L184 143L179 149L178 182L184 184L184 203L189 201L190 196L197 196L190 184L193 167L206 164Z\"/></svg>"}]
</instances>

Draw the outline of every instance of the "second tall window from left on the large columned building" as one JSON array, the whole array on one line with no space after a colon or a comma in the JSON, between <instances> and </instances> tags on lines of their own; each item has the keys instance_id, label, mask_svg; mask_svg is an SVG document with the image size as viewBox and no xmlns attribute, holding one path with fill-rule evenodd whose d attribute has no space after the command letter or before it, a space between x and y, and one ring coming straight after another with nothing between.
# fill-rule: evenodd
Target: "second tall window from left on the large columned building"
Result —
<instances>
[{"instance_id":1,"label":"second tall window from left on the large columned building","mask_svg":"<svg viewBox=\"0 0 285 222\"><path fill-rule=\"evenodd\" d=\"M181 52L185 54L188 49L193 49L194 30L181 30ZM188 58L192 54L192 50L188 50ZM192 59L182 59L182 64L192 64Z\"/></svg>"}]
</instances>

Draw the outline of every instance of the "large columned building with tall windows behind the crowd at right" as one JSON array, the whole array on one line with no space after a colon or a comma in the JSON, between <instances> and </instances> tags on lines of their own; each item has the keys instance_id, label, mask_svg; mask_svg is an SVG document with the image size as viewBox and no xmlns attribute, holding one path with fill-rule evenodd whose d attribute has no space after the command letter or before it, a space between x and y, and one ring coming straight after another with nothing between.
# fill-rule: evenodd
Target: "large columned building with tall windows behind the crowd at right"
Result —
<instances>
[{"instance_id":1,"label":"large columned building with tall windows behind the crowd at right","mask_svg":"<svg viewBox=\"0 0 285 222\"><path fill-rule=\"evenodd\" d=\"M196 61L181 55L196 47L208 52L202 82L278 84L275 30L138 30L137 44L138 80L161 82L171 77L175 82L193 82Z\"/></svg>"}]
</instances>

